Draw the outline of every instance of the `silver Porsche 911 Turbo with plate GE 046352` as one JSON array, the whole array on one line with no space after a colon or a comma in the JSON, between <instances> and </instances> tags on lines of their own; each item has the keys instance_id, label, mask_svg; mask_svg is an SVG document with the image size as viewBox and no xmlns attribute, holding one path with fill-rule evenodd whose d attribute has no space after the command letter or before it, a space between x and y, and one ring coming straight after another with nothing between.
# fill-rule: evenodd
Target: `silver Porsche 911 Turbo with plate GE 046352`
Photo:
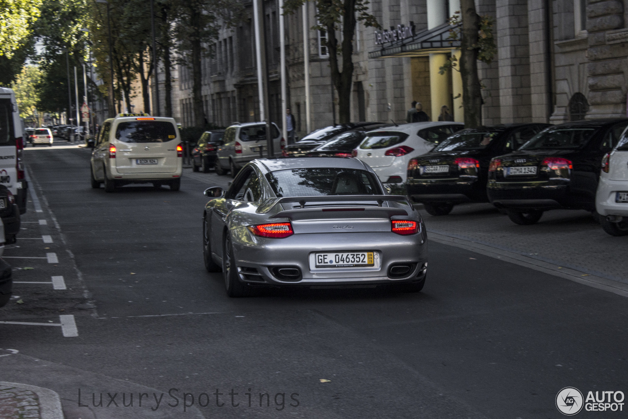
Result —
<instances>
[{"instance_id":1,"label":"silver Porsche 911 Turbo with plate GE 046352","mask_svg":"<svg viewBox=\"0 0 628 419\"><path fill-rule=\"evenodd\" d=\"M205 268L222 271L230 297L264 285L423 288L425 224L359 160L254 160L205 196Z\"/></svg>"}]
</instances>

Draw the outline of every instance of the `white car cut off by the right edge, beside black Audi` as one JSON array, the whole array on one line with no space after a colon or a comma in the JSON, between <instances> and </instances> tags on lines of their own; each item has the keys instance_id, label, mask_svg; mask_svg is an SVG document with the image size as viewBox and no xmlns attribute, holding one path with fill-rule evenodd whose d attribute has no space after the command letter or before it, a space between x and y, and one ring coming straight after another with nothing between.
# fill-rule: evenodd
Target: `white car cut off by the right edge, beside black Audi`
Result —
<instances>
[{"instance_id":1,"label":"white car cut off by the right edge, beside black Audi","mask_svg":"<svg viewBox=\"0 0 628 419\"><path fill-rule=\"evenodd\" d=\"M615 149L602 159L595 209L604 231L611 236L628 236L628 128Z\"/></svg>"}]
</instances>

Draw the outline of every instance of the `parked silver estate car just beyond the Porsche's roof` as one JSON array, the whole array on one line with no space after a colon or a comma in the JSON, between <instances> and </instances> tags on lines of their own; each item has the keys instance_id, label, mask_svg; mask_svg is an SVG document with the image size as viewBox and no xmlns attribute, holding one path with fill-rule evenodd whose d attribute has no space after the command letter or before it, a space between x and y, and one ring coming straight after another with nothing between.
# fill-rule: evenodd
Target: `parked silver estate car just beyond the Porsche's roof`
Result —
<instances>
[{"instance_id":1,"label":"parked silver estate car just beyond the Porsche's roof","mask_svg":"<svg viewBox=\"0 0 628 419\"><path fill-rule=\"evenodd\" d=\"M271 122L271 135L273 136L273 154L281 156L283 139L281 131ZM246 122L233 124L225 130L224 144L219 146L214 170L218 175L231 172L231 177L236 177L238 170L249 161L266 156L266 126L264 122Z\"/></svg>"}]
</instances>

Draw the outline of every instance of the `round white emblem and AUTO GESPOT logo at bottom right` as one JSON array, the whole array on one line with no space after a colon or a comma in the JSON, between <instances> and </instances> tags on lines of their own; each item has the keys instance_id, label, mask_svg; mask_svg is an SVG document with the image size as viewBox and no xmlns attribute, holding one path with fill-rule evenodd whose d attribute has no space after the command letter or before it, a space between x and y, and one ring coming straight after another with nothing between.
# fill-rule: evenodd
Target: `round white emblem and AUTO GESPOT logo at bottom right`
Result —
<instances>
[{"instance_id":1,"label":"round white emblem and AUTO GESPOT logo at bottom right","mask_svg":"<svg viewBox=\"0 0 628 419\"><path fill-rule=\"evenodd\" d=\"M575 387L565 387L556 395L556 408L566 416L586 411L624 411L623 391L588 391L585 398Z\"/></svg>"}]
</instances>

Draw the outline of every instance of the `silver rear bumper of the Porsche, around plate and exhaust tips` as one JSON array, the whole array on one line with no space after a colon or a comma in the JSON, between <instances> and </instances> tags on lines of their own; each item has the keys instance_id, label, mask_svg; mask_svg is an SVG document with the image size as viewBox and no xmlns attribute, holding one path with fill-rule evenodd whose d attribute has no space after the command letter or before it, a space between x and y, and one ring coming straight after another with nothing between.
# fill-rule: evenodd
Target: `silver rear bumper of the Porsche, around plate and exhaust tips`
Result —
<instances>
[{"instance_id":1,"label":"silver rear bumper of the Porsche, around plate and exhaust tips","mask_svg":"<svg viewBox=\"0 0 628 419\"><path fill-rule=\"evenodd\" d=\"M232 232L234 255L241 280L259 285L313 286L364 285L421 280L426 273L425 226L411 236L393 232L295 234L285 239L251 236L246 229ZM235 233L235 234L234 234ZM379 266L362 268L310 268L311 254L322 251L374 251ZM393 266L408 266L403 275L392 275ZM298 268L300 277L286 280L276 274L281 267ZM248 268L248 269L242 269ZM251 274L251 268L256 272Z\"/></svg>"}]
</instances>

